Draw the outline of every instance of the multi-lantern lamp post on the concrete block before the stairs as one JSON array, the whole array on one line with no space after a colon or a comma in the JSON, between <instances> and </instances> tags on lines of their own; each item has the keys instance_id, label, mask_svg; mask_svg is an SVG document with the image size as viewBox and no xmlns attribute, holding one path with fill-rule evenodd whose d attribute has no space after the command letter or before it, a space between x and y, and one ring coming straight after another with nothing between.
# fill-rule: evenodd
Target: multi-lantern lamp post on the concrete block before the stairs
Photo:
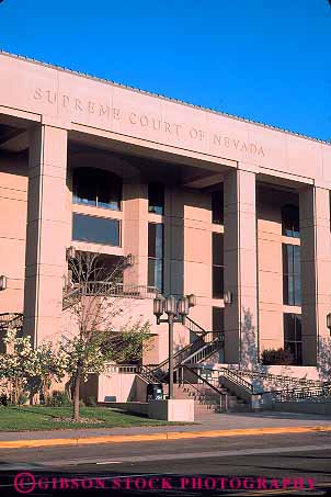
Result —
<instances>
[{"instance_id":1,"label":"multi-lantern lamp post on the concrete block before the stairs","mask_svg":"<svg viewBox=\"0 0 331 497\"><path fill-rule=\"evenodd\" d=\"M189 315L190 307L196 304L195 295L191 294L183 296L176 301L172 295L167 298L157 296L153 300L153 314L157 318L157 325L168 323L169 326L169 398L173 398L173 325L174 323L185 323L185 317ZM161 318L166 313L168 317Z\"/></svg>"}]
</instances>

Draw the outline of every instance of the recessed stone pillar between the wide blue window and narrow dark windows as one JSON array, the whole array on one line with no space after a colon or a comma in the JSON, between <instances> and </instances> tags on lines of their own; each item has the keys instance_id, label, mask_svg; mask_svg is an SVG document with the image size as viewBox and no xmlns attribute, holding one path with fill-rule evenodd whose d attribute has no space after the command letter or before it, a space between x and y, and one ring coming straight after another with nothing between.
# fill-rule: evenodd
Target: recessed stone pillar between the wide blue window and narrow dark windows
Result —
<instances>
[{"instance_id":1,"label":"recessed stone pillar between the wide blue window and narrow dark windows","mask_svg":"<svg viewBox=\"0 0 331 497\"><path fill-rule=\"evenodd\" d=\"M148 267L148 185L140 178L124 184L124 252L134 264L124 271L127 285L147 285Z\"/></svg>"}]
</instances>

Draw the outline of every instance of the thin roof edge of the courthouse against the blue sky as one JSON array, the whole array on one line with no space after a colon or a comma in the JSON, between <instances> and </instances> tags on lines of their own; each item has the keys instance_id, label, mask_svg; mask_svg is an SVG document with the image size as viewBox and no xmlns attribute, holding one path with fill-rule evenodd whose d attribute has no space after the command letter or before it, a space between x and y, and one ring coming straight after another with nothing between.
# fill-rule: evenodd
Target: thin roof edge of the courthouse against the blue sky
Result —
<instances>
[{"instance_id":1,"label":"thin roof edge of the courthouse against the blue sky","mask_svg":"<svg viewBox=\"0 0 331 497\"><path fill-rule=\"evenodd\" d=\"M135 91L137 93L142 93L142 94L146 94L146 95L149 95L149 97L157 97L158 99L162 99L162 100L166 100L168 102L179 103L181 105L186 105L186 106L190 106L190 108L193 108L193 109L197 109L199 111L210 112L210 113L216 114L216 115L222 115L222 116L236 120L236 121L241 121L243 123L249 123L249 124L254 124L256 126L265 127L266 129L273 129L273 131L276 131L276 132L285 133L287 135L298 136L300 138L305 138L305 139L311 140L311 142L317 142L317 143L320 143L320 144L324 144L324 145L331 146L331 142L328 142L328 140L324 140L324 139L321 139L321 138L316 138L313 136L305 135L303 133L296 133L296 132L293 132L290 129L284 129L284 128L279 127L279 126L274 126L272 124L265 124L265 123L262 123L260 121L253 121L253 120L250 120L248 117L242 117L242 116L239 116L239 115L229 114L227 112L216 111L215 109L212 109L212 108L205 108L203 105L196 105L194 103L186 102L184 100L174 99L174 98L167 97L167 95L159 94L159 93L152 93L151 91L148 91L148 90L141 90L140 88L130 87L129 84L118 83L116 81L112 81L111 79L99 78L96 76L89 75L88 72L80 72L78 70L69 69L69 68L64 67L64 66L56 66L54 64L45 63L43 60L37 60L37 59L34 59L34 58L27 57L25 55L12 54L12 53L5 52L3 49L0 49L0 54L1 55L5 55L8 57L18 58L20 60L24 60L24 61L28 61L28 63L32 63L32 64L36 64L36 65L39 65L39 66L45 66L45 67L48 67L50 69L56 69L56 70L60 70L62 72L68 72L70 75L76 75L76 76L79 76L81 78L91 79L93 81L99 81L99 82L103 82L103 83L106 83L106 84L112 84L114 87L124 88L126 90L132 90L132 91Z\"/></svg>"}]
</instances>

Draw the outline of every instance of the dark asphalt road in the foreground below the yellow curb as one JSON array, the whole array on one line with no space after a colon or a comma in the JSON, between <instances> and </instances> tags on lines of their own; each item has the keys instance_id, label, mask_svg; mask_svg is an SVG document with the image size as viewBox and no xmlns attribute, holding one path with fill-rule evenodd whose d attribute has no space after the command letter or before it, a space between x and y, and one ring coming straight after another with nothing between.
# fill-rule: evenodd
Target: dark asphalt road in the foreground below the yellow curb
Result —
<instances>
[{"instance_id":1,"label":"dark asphalt road in the foreground below the yellow curb","mask_svg":"<svg viewBox=\"0 0 331 497\"><path fill-rule=\"evenodd\" d=\"M58 478L71 477L99 477L116 496L331 495L331 433L0 450L0 470L1 495L19 495L12 485L22 471L35 478L32 493L28 482L22 486L25 495L96 493L59 488ZM46 475L48 487L38 484Z\"/></svg>"}]
</instances>

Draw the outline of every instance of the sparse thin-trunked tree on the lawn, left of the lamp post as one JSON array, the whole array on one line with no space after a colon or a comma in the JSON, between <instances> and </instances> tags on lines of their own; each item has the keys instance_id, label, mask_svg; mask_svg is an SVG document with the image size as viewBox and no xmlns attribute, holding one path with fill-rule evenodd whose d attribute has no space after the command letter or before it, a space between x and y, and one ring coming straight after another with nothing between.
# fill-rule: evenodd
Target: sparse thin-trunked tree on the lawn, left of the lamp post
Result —
<instances>
[{"instance_id":1,"label":"sparse thin-trunked tree on the lawn, left of the lamp post","mask_svg":"<svg viewBox=\"0 0 331 497\"><path fill-rule=\"evenodd\" d=\"M77 330L64 337L60 347L68 357L75 420L79 419L80 385L88 373L101 374L110 361L141 359L150 338L148 321L125 318L124 323L127 297L133 296L133 290L126 294L123 287L125 268L124 259L105 267L102 257L92 252L77 252L69 260L72 284L64 304Z\"/></svg>"}]
</instances>

